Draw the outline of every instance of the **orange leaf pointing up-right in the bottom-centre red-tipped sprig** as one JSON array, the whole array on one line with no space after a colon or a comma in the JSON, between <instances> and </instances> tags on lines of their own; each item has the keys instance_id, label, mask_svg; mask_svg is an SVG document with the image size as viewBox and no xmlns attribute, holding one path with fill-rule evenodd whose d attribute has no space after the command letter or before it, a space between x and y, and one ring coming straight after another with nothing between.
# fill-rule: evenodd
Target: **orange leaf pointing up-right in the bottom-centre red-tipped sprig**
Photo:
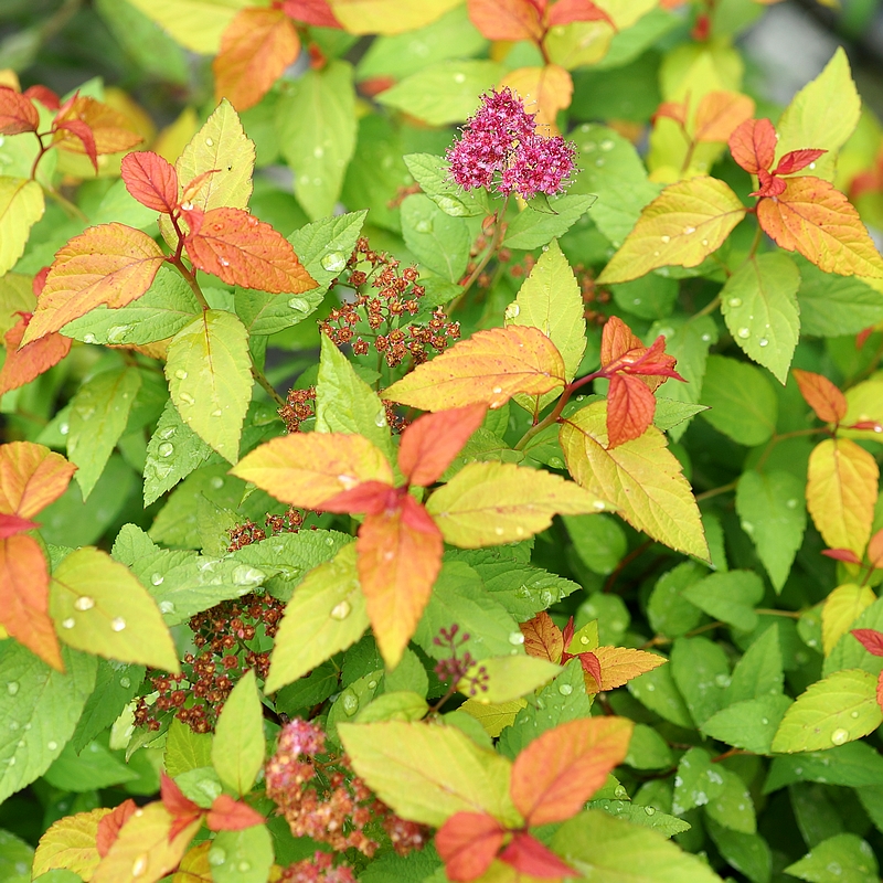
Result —
<instances>
[{"instance_id":1,"label":"orange leaf pointing up-right in the bottom-centre red-tipped sprig","mask_svg":"<svg viewBox=\"0 0 883 883\"><path fill-rule=\"evenodd\" d=\"M547 730L512 765L509 791L528 825L564 821L604 785L626 756L634 724L582 717Z\"/></svg>"}]
</instances>

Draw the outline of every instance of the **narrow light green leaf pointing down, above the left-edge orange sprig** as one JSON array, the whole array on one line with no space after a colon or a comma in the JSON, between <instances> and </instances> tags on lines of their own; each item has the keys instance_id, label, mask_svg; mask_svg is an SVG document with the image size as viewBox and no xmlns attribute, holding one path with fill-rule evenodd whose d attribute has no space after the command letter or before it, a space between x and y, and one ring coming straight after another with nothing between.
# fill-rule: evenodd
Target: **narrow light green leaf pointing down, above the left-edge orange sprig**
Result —
<instances>
[{"instance_id":1,"label":"narrow light green leaf pointing down, above the left-edge orange sprig","mask_svg":"<svg viewBox=\"0 0 883 883\"><path fill-rule=\"evenodd\" d=\"M141 387L136 368L103 371L84 383L71 402L67 458L83 499L88 499L126 429L135 396Z\"/></svg>"}]
</instances>

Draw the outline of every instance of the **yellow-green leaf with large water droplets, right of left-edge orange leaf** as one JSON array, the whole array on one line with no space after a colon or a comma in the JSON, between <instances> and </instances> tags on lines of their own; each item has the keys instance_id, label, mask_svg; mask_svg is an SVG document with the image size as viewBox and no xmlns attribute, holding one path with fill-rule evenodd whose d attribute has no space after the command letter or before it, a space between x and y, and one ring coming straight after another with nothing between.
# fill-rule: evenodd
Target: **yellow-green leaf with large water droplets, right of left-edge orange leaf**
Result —
<instances>
[{"instance_id":1,"label":"yellow-green leaf with large water droplets, right of left-edge orange leaf","mask_svg":"<svg viewBox=\"0 0 883 883\"><path fill-rule=\"evenodd\" d=\"M77 650L178 672L178 651L156 602L106 552L77 549L52 574L50 614Z\"/></svg>"}]
</instances>

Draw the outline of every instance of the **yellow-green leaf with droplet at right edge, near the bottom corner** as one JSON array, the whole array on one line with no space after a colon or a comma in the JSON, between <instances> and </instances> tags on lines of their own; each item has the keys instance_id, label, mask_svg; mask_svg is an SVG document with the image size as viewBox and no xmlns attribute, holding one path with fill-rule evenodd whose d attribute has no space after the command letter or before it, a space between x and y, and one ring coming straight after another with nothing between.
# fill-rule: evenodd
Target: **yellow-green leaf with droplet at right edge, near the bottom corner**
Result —
<instances>
[{"instance_id":1,"label":"yellow-green leaf with droplet at right edge, near the bottom corner","mask_svg":"<svg viewBox=\"0 0 883 883\"><path fill-rule=\"evenodd\" d=\"M773 751L822 751L866 736L883 723L876 702L876 678L844 669L810 684L797 698L773 740Z\"/></svg>"}]
</instances>

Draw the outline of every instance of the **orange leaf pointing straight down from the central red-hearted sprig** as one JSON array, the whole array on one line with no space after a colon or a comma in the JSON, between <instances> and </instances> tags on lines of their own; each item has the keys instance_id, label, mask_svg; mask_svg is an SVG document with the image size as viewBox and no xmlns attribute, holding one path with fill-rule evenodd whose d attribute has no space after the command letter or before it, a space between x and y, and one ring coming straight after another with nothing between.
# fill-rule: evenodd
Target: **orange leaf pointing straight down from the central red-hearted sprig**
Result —
<instances>
[{"instance_id":1,"label":"orange leaf pointing straight down from the central red-hearted sprig","mask_svg":"<svg viewBox=\"0 0 883 883\"><path fill-rule=\"evenodd\" d=\"M368 618L390 669L398 664L442 570L442 533L405 496L402 508L368 515L359 529L359 579Z\"/></svg>"}]
</instances>

